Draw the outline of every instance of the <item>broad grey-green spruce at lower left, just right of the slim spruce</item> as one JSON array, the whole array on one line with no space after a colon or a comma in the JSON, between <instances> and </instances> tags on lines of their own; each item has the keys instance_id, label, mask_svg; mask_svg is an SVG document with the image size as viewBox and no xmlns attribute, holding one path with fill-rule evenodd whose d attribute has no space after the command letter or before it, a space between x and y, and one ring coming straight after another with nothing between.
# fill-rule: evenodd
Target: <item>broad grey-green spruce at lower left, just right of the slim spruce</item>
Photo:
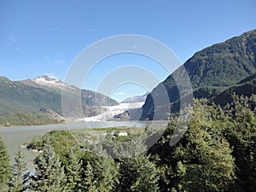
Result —
<instances>
[{"instance_id":1,"label":"broad grey-green spruce at lower left, just right of the slim spruce","mask_svg":"<svg viewBox=\"0 0 256 192\"><path fill-rule=\"evenodd\" d=\"M42 154L39 154L35 164L36 175L32 177L32 191L66 191L66 177L63 167L50 145L44 146L44 151Z\"/></svg>"}]
</instances>

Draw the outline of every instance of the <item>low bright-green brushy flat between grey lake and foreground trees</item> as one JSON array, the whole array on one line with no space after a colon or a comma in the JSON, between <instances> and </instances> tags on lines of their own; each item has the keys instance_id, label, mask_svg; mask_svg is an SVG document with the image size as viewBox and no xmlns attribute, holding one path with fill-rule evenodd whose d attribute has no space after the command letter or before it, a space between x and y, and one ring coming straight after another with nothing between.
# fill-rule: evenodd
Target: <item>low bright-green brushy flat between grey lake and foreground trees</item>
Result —
<instances>
[{"instance_id":1,"label":"low bright-green brushy flat between grey lake and foreground trees","mask_svg":"<svg viewBox=\"0 0 256 192\"><path fill-rule=\"evenodd\" d=\"M91 143L97 143L100 138L108 136L119 136L119 141L125 141L129 135L139 136L145 129L133 127L108 127L82 129L73 131L49 131L42 137L34 137L31 142L25 143L28 149L42 150L45 143L51 143L55 148L56 154L65 164L67 162L67 153L70 148L87 148ZM126 133L127 135L119 135ZM79 152L80 156L84 155L83 150Z\"/></svg>"}]
</instances>

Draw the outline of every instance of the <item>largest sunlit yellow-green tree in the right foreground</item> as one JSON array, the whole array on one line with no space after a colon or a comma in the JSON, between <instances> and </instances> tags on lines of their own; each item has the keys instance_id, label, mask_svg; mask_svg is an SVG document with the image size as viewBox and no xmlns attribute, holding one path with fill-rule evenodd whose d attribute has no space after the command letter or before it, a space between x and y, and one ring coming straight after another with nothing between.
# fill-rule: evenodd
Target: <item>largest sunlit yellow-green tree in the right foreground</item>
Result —
<instances>
[{"instance_id":1,"label":"largest sunlit yellow-green tree in the right foreground","mask_svg":"<svg viewBox=\"0 0 256 192\"><path fill-rule=\"evenodd\" d=\"M179 161L177 172L183 172L180 187L188 191L226 191L234 182L235 171L230 144L221 138L207 101L195 100L194 104L188 131L173 152Z\"/></svg>"}]
</instances>

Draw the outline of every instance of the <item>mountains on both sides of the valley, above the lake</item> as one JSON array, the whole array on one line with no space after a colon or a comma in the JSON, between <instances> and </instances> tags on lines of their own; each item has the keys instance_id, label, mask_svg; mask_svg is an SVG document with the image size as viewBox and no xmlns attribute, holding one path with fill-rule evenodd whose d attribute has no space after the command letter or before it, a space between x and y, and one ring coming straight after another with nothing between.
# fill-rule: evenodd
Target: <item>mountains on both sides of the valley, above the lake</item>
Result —
<instances>
[{"instance_id":1,"label":"mountains on both sides of the valley, above the lake","mask_svg":"<svg viewBox=\"0 0 256 192\"><path fill-rule=\"evenodd\" d=\"M202 49L185 61L182 67L189 75L192 91L181 96L193 94L195 98L207 98L224 106L231 102L232 94L250 96L256 94L256 30L245 32L230 38L224 43L213 44ZM127 119L168 119L171 113L180 109L180 93L173 77L182 73L178 67L150 93L126 99L123 103L143 102L142 108L124 113ZM162 88L165 88L169 102L163 101ZM119 105L118 102L91 90L65 84L60 79L48 76L23 81L11 81L0 77L0 126L9 125L44 125L63 122L61 91L68 93L68 99L81 97L84 117L96 116L106 109L102 106ZM154 99L153 99L154 98ZM164 104L163 104L164 103ZM73 103L67 106L77 117ZM171 109L171 110L170 110ZM155 113L158 111L158 113ZM68 116L69 117L69 116Z\"/></svg>"}]
</instances>

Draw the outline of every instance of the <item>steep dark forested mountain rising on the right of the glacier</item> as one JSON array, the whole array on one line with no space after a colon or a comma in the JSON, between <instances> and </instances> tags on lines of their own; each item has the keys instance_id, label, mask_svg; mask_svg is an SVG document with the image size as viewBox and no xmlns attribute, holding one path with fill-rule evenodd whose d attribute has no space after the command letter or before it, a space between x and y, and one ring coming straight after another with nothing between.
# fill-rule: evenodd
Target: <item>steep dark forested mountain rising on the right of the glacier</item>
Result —
<instances>
[{"instance_id":1,"label":"steep dark forested mountain rising on the right of the glacier","mask_svg":"<svg viewBox=\"0 0 256 192\"><path fill-rule=\"evenodd\" d=\"M225 95L230 94L230 91L239 94L239 91L243 89L244 92L247 91L247 95L255 93L255 84L253 84L255 81L239 83L242 79L247 80L247 77L256 73L255 57L256 30L245 32L241 36L231 38L221 44L213 44L211 47L195 53L183 64L189 74L194 97L214 98L214 102L224 104L223 99ZM179 92L173 76L180 71L180 67L177 68L162 84L148 94L142 108L141 119L153 119L155 108L158 110L165 108L165 106L154 106L153 100L153 98L161 100L162 94L159 93L159 90L162 85L166 87L171 102L171 113L177 112ZM251 78L254 79L253 77L255 78L255 76ZM234 87L230 88L232 86ZM241 88L241 86L243 87ZM219 94L221 95L218 96ZM163 110L163 117L167 118L168 115L164 115L164 112L166 113L166 111ZM160 117L155 118L159 119Z\"/></svg>"}]
</instances>

